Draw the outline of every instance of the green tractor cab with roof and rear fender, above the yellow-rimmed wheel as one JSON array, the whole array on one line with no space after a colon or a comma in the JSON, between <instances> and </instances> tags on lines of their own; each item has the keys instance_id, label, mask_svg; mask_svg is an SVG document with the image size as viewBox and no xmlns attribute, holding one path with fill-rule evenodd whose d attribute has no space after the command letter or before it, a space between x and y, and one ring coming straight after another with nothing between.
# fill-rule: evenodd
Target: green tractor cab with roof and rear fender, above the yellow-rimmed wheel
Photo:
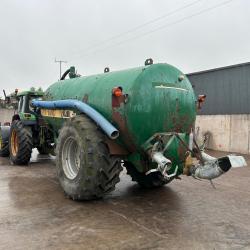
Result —
<instances>
[{"instance_id":1,"label":"green tractor cab with roof and rear fender, above the yellow-rimmed wheel","mask_svg":"<svg viewBox=\"0 0 250 250\"><path fill-rule=\"evenodd\" d=\"M42 96L42 91L23 91L17 93L18 106L16 116L26 125L31 125L36 122L36 113L34 112L34 107L32 107L31 102L33 99L41 99Z\"/></svg>"}]
</instances>

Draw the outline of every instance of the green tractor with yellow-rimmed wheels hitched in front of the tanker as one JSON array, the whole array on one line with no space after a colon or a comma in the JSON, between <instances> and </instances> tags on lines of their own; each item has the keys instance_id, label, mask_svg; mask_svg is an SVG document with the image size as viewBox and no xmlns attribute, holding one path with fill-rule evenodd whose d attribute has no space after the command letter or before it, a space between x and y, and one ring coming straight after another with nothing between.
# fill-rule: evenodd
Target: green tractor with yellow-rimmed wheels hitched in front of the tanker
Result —
<instances>
[{"instance_id":1,"label":"green tractor with yellow-rimmed wheels hitched in front of the tanker","mask_svg":"<svg viewBox=\"0 0 250 250\"><path fill-rule=\"evenodd\" d=\"M42 97L41 91L16 93L18 106L11 126L0 127L0 155L10 156L14 164L27 164L33 148L37 148L40 154L53 153L53 133L31 105L33 99Z\"/></svg>"}]
</instances>

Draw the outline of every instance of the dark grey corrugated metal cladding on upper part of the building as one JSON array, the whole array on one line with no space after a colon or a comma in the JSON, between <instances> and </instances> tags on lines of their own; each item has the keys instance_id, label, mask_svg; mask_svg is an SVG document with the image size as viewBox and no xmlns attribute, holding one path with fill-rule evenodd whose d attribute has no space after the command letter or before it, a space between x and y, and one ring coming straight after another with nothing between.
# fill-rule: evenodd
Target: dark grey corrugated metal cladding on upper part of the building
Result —
<instances>
[{"instance_id":1,"label":"dark grey corrugated metal cladding on upper part of the building","mask_svg":"<svg viewBox=\"0 0 250 250\"><path fill-rule=\"evenodd\" d=\"M201 115L250 114L250 63L187 76L195 93L207 96Z\"/></svg>"}]
</instances>

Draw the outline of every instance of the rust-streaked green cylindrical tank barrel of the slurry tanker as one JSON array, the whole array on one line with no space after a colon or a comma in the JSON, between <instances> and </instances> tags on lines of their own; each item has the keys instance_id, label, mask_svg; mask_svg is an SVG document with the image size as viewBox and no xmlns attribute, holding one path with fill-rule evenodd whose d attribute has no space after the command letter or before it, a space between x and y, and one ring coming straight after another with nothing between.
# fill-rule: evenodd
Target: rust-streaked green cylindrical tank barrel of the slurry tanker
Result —
<instances>
[{"instance_id":1,"label":"rust-streaked green cylindrical tank barrel of the slurry tanker","mask_svg":"<svg viewBox=\"0 0 250 250\"><path fill-rule=\"evenodd\" d=\"M122 95L112 91L121 87ZM187 77L169 64L153 64L51 85L45 100L78 99L100 112L120 131L130 151L159 132L190 133L196 98Z\"/></svg>"}]
</instances>

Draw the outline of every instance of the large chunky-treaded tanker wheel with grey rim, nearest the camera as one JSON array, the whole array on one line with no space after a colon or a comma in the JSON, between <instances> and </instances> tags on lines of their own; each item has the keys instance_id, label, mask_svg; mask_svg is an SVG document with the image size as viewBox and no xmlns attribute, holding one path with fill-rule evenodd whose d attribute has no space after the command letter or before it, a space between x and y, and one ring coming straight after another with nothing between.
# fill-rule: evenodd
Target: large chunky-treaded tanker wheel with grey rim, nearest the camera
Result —
<instances>
[{"instance_id":1,"label":"large chunky-treaded tanker wheel with grey rim, nearest the camera","mask_svg":"<svg viewBox=\"0 0 250 250\"><path fill-rule=\"evenodd\" d=\"M109 154L105 135L83 115L60 130L56 166L59 182L73 200L103 197L115 189L122 170L120 159Z\"/></svg>"}]
</instances>

